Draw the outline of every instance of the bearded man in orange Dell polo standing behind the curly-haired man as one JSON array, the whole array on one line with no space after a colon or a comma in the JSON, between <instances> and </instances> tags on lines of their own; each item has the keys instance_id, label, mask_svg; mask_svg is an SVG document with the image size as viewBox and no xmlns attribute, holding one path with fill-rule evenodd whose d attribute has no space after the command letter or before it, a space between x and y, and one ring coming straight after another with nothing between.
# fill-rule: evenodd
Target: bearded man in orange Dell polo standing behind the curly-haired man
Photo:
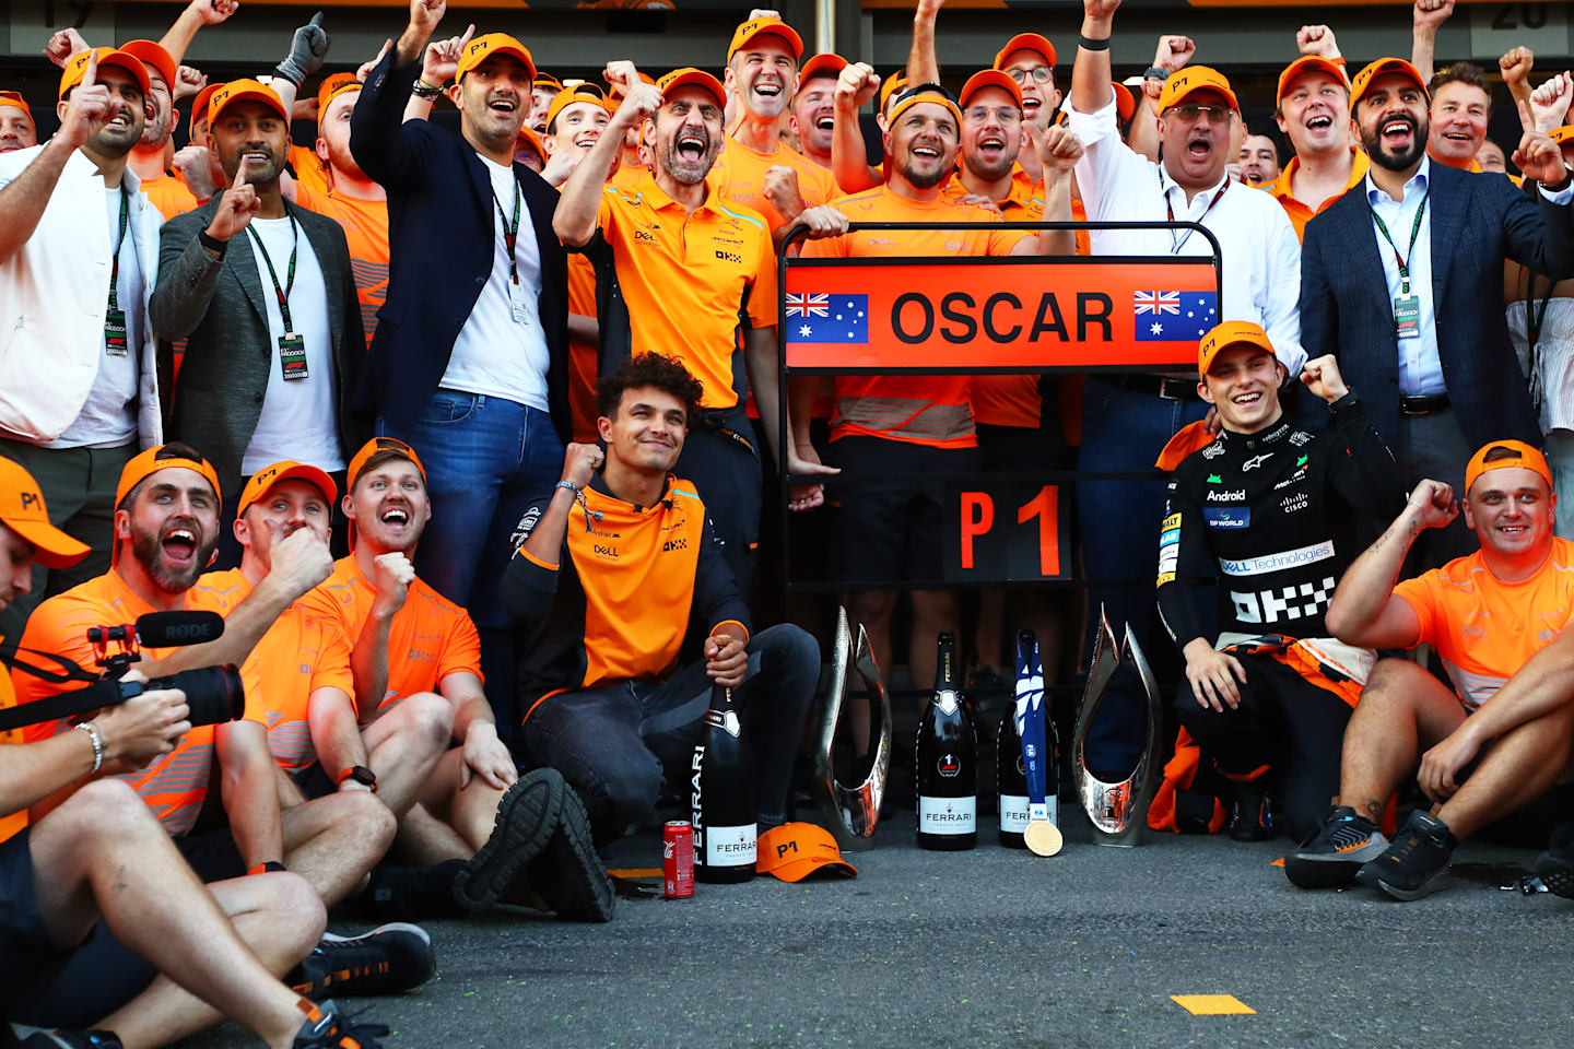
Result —
<instances>
[{"instance_id":1,"label":"bearded man in orange Dell polo standing behind the curly-haired man","mask_svg":"<svg viewBox=\"0 0 1574 1049\"><path fill-rule=\"evenodd\" d=\"M760 212L724 201L707 179L722 149L726 91L716 77L675 69L650 86L637 82L633 63L620 61L608 66L608 80L622 85L623 101L563 184L552 228L595 261L598 296L614 304L600 316L601 371L655 351L683 362L704 384L704 412L678 470L707 499L727 565L748 588L762 473L733 355L741 329L748 388L765 432L779 440L771 231ZM606 192L619 143L634 124L652 143L652 175L630 190ZM817 464L803 466L812 472Z\"/></svg>"}]
</instances>

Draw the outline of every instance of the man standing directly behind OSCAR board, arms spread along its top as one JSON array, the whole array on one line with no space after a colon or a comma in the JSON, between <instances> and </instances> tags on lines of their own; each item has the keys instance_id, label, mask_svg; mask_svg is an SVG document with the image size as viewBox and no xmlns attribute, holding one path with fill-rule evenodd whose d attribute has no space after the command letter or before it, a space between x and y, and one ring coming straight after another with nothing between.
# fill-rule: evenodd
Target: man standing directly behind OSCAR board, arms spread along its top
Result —
<instances>
[{"instance_id":1,"label":"man standing directly behind OSCAR board, arms spread along its top","mask_svg":"<svg viewBox=\"0 0 1574 1049\"><path fill-rule=\"evenodd\" d=\"M955 170L962 112L940 86L908 88L891 104L885 149L886 186L844 197L804 212L811 225L836 228L852 222L998 222L999 212L965 204L941 192ZM1081 146L1064 129L1039 140L1040 160L1072 164ZM828 212L834 222L822 219ZM804 245L806 258L870 258L889 255L1033 255L1064 248L1064 234L1044 231L902 230L858 231ZM837 466L858 477L841 489L839 536L833 554L837 579L853 580L850 604L869 629L875 657L889 665L892 590L858 590L856 580L940 579L943 514L940 488L914 477L973 470L979 466L966 376L837 376L831 450ZM809 404L814 385L793 387L796 455L814 456ZM875 475L899 473L900 480ZM955 593L913 591L913 679L933 676L933 637L957 629Z\"/></svg>"}]
</instances>

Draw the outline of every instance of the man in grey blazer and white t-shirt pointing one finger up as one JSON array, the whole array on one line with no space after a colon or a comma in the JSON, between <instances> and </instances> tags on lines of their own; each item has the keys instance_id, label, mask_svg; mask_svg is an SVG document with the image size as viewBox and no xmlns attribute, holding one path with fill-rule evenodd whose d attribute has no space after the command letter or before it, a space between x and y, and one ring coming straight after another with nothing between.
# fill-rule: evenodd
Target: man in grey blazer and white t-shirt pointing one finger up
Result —
<instances>
[{"instance_id":1,"label":"man in grey blazer and white t-shirt pointing one finger up","mask_svg":"<svg viewBox=\"0 0 1574 1049\"><path fill-rule=\"evenodd\" d=\"M164 225L150 305L161 371L173 368L168 343L186 340L178 384L164 387L168 432L209 458L225 492L285 459L342 481L364 440L343 392L365 352L345 233L280 195L290 118L271 88L227 83L208 115L230 189ZM220 566L238 561L220 535Z\"/></svg>"}]
</instances>

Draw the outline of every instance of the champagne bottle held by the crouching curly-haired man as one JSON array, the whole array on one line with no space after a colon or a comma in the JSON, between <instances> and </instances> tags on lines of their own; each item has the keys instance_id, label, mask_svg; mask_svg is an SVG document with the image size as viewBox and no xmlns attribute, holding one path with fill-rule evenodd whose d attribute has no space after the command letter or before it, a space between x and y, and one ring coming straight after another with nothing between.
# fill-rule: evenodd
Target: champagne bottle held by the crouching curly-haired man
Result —
<instances>
[{"instance_id":1,"label":"champagne bottle held by the crouching curly-haired man","mask_svg":"<svg viewBox=\"0 0 1574 1049\"><path fill-rule=\"evenodd\" d=\"M718 684L693 758L694 879L738 882L754 878L757 812L754 761L743 741L732 689Z\"/></svg>"}]
</instances>

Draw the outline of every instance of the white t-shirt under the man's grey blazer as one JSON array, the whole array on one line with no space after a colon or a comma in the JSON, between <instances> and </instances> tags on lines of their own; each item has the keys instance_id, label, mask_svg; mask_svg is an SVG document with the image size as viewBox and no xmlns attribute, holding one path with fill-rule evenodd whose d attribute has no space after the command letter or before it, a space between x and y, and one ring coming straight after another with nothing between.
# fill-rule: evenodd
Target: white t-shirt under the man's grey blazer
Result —
<instances>
[{"instance_id":1,"label":"white t-shirt under the man's grey blazer","mask_svg":"<svg viewBox=\"0 0 1574 1049\"><path fill-rule=\"evenodd\" d=\"M305 231L288 215L283 219L252 219L250 228L261 237L272 259L279 286L290 285L290 248L297 244L294 288L290 291L290 324L305 340L305 379L285 381L279 360L279 340L285 333L285 318L279 296L268 275L268 263L257 250L257 241L246 234L257 263L257 278L263 283L268 304L268 393L263 415L257 420L252 444L241 458L241 473L250 477L280 459L309 462L332 473L345 469L338 450L338 412L334 398L334 343L327 326L327 285L316 252Z\"/></svg>"}]
</instances>

